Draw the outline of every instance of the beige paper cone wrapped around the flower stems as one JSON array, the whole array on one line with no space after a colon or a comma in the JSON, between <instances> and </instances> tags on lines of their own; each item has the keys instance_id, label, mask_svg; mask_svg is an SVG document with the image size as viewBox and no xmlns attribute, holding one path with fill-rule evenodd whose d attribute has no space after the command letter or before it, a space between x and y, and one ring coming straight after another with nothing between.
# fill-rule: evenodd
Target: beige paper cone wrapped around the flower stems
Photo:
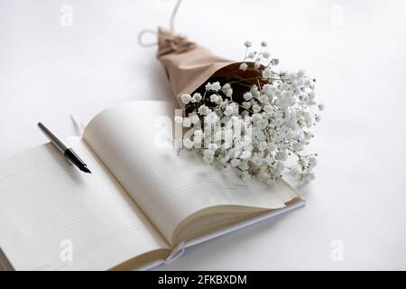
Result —
<instances>
[{"instance_id":1,"label":"beige paper cone wrapped around the flower stems","mask_svg":"<svg viewBox=\"0 0 406 289\"><path fill-rule=\"evenodd\" d=\"M158 30L158 60L171 82L175 98L181 108L181 95L198 89L211 77L227 77L239 69L241 62L230 61L212 54L185 37L160 28ZM240 71L235 79L251 79L254 71Z\"/></svg>"}]
</instances>

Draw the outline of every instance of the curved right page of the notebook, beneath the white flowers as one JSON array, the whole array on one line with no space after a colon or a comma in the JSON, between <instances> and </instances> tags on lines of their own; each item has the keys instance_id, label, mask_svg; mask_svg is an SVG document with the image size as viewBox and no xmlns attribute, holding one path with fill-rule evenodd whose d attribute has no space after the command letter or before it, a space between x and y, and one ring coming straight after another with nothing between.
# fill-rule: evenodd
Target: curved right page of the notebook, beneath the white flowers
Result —
<instances>
[{"instance_id":1,"label":"curved right page of the notebook, beneath the white flowers","mask_svg":"<svg viewBox=\"0 0 406 289\"><path fill-rule=\"evenodd\" d=\"M180 222L198 210L220 205L279 209L297 197L285 182L272 189L245 182L234 172L204 163L197 152L177 154L173 148L158 147L160 125L171 125L173 113L170 102L129 102L99 114L84 134L169 242Z\"/></svg>"}]
</instances>

